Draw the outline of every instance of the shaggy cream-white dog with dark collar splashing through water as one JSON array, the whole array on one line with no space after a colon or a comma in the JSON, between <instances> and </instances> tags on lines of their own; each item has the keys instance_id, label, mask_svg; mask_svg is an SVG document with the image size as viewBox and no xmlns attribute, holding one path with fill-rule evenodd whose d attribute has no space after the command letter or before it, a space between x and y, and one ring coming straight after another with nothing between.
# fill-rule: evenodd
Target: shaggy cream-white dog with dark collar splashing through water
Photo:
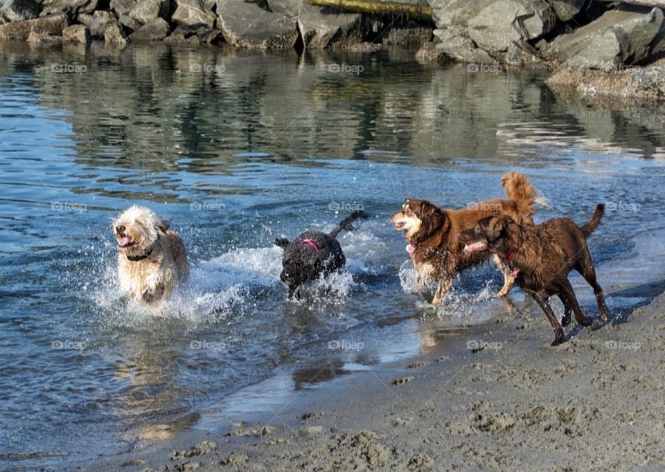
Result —
<instances>
[{"instance_id":1,"label":"shaggy cream-white dog with dark collar splashing through water","mask_svg":"<svg viewBox=\"0 0 665 472\"><path fill-rule=\"evenodd\" d=\"M123 291L157 314L173 288L189 274L185 245L168 227L168 221L136 205L112 226L118 240L118 277Z\"/></svg>"}]
</instances>

